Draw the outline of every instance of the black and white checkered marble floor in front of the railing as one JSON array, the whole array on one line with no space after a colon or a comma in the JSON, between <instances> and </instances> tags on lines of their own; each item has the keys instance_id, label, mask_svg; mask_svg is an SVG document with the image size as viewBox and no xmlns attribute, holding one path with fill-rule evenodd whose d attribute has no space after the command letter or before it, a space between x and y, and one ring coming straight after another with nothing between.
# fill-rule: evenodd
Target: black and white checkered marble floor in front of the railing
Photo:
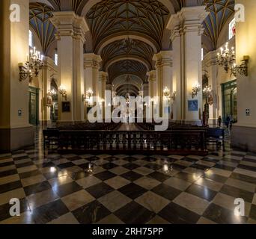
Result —
<instances>
[{"instance_id":1,"label":"black and white checkered marble floor in front of the railing","mask_svg":"<svg viewBox=\"0 0 256 239\"><path fill-rule=\"evenodd\" d=\"M20 217L10 217L12 198ZM237 198L245 217L234 215ZM38 140L0 155L0 223L256 223L256 155L44 157Z\"/></svg>"}]
</instances>

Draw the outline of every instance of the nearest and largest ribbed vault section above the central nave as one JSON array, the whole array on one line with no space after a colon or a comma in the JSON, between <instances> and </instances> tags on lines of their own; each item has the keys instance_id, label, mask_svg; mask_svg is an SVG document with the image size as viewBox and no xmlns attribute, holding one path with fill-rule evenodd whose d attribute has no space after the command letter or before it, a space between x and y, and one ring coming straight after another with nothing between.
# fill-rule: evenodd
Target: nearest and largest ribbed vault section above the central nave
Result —
<instances>
[{"instance_id":1,"label":"nearest and largest ribbed vault section above the central nave","mask_svg":"<svg viewBox=\"0 0 256 239\"><path fill-rule=\"evenodd\" d=\"M168 9L157 0L102 0L87 13L94 49L109 35L138 32L161 49Z\"/></svg>"}]
</instances>

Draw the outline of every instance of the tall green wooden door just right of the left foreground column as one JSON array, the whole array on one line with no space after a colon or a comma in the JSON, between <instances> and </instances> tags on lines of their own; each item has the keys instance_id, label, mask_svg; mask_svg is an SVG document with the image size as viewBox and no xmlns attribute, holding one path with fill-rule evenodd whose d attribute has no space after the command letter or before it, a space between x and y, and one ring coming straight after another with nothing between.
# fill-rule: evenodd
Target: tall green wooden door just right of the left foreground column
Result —
<instances>
[{"instance_id":1,"label":"tall green wooden door just right of the left foreground column","mask_svg":"<svg viewBox=\"0 0 256 239\"><path fill-rule=\"evenodd\" d=\"M38 125L38 89L29 87L29 123Z\"/></svg>"}]
</instances>

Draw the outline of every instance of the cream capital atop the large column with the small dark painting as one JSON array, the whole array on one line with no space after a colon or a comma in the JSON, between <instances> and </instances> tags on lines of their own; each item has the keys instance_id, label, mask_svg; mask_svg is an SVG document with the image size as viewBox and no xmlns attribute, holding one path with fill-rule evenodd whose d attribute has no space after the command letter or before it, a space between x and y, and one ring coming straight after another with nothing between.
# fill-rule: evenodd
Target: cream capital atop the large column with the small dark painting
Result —
<instances>
[{"instance_id":1,"label":"cream capital atop the large column with the small dark painting","mask_svg":"<svg viewBox=\"0 0 256 239\"><path fill-rule=\"evenodd\" d=\"M60 40L61 37L71 36L80 37L85 42L85 32L90 29L84 17L76 15L73 11L64 11L54 12L50 20L57 29L55 35L57 40Z\"/></svg>"}]
</instances>

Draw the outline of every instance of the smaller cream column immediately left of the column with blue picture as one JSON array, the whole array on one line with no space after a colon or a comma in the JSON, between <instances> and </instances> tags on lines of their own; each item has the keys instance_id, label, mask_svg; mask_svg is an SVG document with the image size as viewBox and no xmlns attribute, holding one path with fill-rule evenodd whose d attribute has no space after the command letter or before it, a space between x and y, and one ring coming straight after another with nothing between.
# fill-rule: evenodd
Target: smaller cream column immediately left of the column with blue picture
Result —
<instances>
[{"instance_id":1,"label":"smaller cream column immediately left of the column with blue picture","mask_svg":"<svg viewBox=\"0 0 256 239\"><path fill-rule=\"evenodd\" d=\"M156 96L159 97L160 116L162 116L163 90L172 92L172 52L162 51L153 56L156 61Z\"/></svg>"}]
</instances>

